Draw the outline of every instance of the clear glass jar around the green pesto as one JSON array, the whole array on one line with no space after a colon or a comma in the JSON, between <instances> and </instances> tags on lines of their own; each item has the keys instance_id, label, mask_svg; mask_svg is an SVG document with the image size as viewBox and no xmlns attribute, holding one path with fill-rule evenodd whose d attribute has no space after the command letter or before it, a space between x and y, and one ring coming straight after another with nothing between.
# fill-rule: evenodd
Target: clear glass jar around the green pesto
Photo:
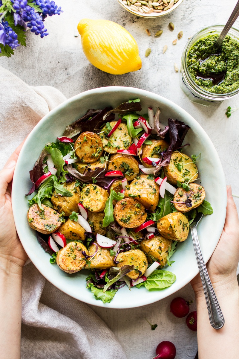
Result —
<instances>
[{"instance_id":1,"label":"clear glass jar around the green pesto","mask_svg":"<svg viewBox=\"0 0 239 359\"><path fill-rule=\"evenodd\" d=\"M229 93L212 93L202 89L199 85L197 85L191 78L188 68L187 68L187 54L190 51L191 47L195 45L199 39L206 37L211 34L220 34L223 30L224 25L213 25L206 27L205 29L200 30L186 44L183 53L182 53L182 61L181 61L181 71L182 71L182 82L181 88L186 93L186 95L193 101L197 103L201 103L203 105L210 105L211 103L221 102L223 100L229 99L239 93L239 88L229 92ZM228 35L239 41L239 30L235 28L231 28L228 32Z\"/></svg>"}]
</instances>

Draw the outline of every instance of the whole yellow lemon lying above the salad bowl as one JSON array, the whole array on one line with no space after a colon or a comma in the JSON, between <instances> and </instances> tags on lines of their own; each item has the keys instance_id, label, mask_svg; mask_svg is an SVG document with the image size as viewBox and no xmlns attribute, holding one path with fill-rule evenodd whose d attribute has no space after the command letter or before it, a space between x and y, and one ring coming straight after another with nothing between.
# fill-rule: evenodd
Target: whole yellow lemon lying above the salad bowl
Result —
<instances>
[{"instance_id":1,"label":"whole yellow lemon lying above the salad bowl","mask_svg":"<svg viewBox=\"0 0 239 359\"><path fill-rule=\"evenodd\" d=\"M98 69L113 75L141 69L137 42L119 24L109 20L82 19L77 29L87 59Z\"/></svg>"}]
</instances>

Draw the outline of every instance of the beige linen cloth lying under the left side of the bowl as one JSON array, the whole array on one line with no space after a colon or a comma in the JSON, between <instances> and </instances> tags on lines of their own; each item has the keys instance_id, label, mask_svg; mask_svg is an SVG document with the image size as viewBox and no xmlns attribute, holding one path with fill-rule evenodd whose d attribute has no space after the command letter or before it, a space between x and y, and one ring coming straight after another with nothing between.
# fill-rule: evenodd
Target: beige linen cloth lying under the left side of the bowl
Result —
<instances>
[{"instance_id":1,"label":"beige linen cloth lying under the left side of the bowl","mask_svg":"<svg viewBox=\"0 0 239 359\"><path fill-rule=\"evenodd\" d=\"M52 108L66 100L50 86L31 87L0 66L0 169ZM24 267L22 359L126 359L113 332L85 303Z\"/></svg>"}]
</instances>

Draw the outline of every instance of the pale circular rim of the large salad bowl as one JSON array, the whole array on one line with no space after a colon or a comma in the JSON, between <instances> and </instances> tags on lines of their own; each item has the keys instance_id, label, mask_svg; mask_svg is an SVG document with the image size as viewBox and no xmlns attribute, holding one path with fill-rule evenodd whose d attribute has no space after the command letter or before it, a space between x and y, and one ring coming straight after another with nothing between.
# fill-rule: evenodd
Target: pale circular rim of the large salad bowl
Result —
<instances>
[{"instance_id":1,"label":"pale circular rim of the large salad bowl","mask_svg":"<svg viewBox=\"0 0 239 359\"><path fill-rule=\"evenodd\" d=\"M137 93L138 97L143 96L145 98L148 98L149 101L150 99L156 99L159 103L163 103L167 106L171 106L173 107L174 110L176 110L178 113L181 113L182 117L187 117L190 118L190 120L193 122L193 129L199 133L203 133L204 135L204 139L207 140L207 144L210 145L210 155L213 155L213 158L215 159L215 168L218 168L218 171L221 172L222 176L220 178L221 184L222 184L222 188L224 188L224 190L221 191L220 193L220 203L221 203L221 212L222 212L222 216L221 216L221 222L218 224L218 227L220 229L220 233L223 230L224 227L224 222L225 222L225 216L226 216L226 182L225 182L225 176L224 176L224 172L223 172L223 167L221 165L218 153L216 152L216 149L214 147L214 145L212 144L212 141L210 140L209 136L206 134L205 130L199 125L199 123L188 113L186 112L182 107L178 106L177 104L175 104L174 102L172 102L171 100L166 99L165 97L162 97L161 95L149 92L147 90L142 90L142 89L138 89L138 88L133 88L133 87L126 87L126 86L109 86L109 87L100 87L100 88L96 88L96 89L91 89L91 90L87 90L84 91L80 94L77 94L73 97L71 97L70 99L67 99L66 101L62 102L61 104L59 104L57 107L55 107L53 110L49 111L47 113L46 116L44 116L42 118L42 120L40 120L37 125L33 128L33 130L30 132L30 134L28 135L27 139L25 140L25 143L23 144L23 147L19 153L19 157L18 157L18 161L16 163L16 168L14 171L14 177L13 177L13 185L12 185L12 208L13 208L13 216L14 216L14 222L15 222L15 227L16 230L18 232L19 238L21 239L21 243L23 244L23 247L27 253L27 255L29 256L29 258L31 259L31 251L29 250L28 246L27 246L27 242L29 241L29 239L26 239L24 234L21 233L21 225L20 225L20 219L18 219L18 213L19 213L19 208L17 205L17 201L15 200L15 198L18 197L18 190L17 190L17 186L18 186L18 181L17 181L17 177L18 177L18 172L22 171L21 167L20 167L20 162L21 162L21 158L24 156L24 150L27 147L28 141L30 141L30 139L32 138L32 136L34 136L37 132L38 132L38 128L42 125L43 122L47 122L49 121L49 117L52 116L52 114L57 113L58 111L61 111L61 109L63 109L66 105L70 105L72 102L75 101L82 101L82 99L84 97L87 97L87 95L100 95L104 92L132 92L133 93ZM219 236L220 238L220 236ZM219 241L218 238L218 241ZM216 248L216 245L218 244L218 241L215 242L215 246L213 248L213 251ZM205 263L209 260L209 258L212 255L212 252L210 253L206 253L206 255L204 254L204 260ZM33 256L35 256L35 253L33 254ZM32 259L31 259L32 260ZM95 297L92 295L91 299L87 299L85 300L85 298L81 297L79 295L76 295L75 293L72 293L70 290L67 290L67 288L64 287L64 285L62 283L59 283L56 279L54 278L49 278L48 277L48 271L46 266L44 266L44 264L40 261L40 259L38 259L37 256L34 257L34 260L32 260L33 264L35 265L35 267L38 269L38 271L50 282L52 283L54 286L56 286L58 289L62 290L62 292L70 295L73 298L76 298L78 300L81 300L82 302L85 302L87 304L92 304L94 306L97 307L104 307L104 308L114 308L114 309L126 309L126 308L136 308L136 307L141 307L147 304L151 304L154 302L157 302L158 300L161 300L163 298L168 297L169 295L177 292L178 290L180 290L181 288L183 288L185 285L187 285L198 273L199 270L198 268L195 269L194 271L191 270L190 271L190 275L188 275L188 277L186 278L185 281L180 281L180 285L177 283L177 281L175 283L173 283L172 286L170 286L169 288L164 289L164 291L159 291L157 293L159 293L159 298L154 298L153 300L150 299L150 297L147 298L147 296L142 296L146 299L141 299L139 300L138 303L122 303L122 305L120 304L120 306L117 306L114 304L114 300L112 300L111 303L106 303L104 304L103 302L101 302L100 300L96 300ZM54 276L53 276L54 277ZM166 293L166 295L164 297L160 297L160 293ZM153 293L153 292L152 292Z\"/></svg>"}]
</instances>

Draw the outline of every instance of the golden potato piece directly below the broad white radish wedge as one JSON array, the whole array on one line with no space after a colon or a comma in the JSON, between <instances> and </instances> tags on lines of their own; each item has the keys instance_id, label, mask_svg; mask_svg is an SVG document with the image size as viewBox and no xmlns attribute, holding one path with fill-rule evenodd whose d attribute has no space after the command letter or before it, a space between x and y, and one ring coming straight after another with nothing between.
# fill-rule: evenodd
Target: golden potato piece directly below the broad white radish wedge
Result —
<instances>
[{"instance_id":1,"label":"golden potato piece directly below the broad white radish wedge","mask_svg":"<svg viewBox=\"0 0 239 359\"><path fill-rule=\"evenodd\" d=\"M95 244L91 244L89 248L89 256L92 256L95 253L95 250ZM114 266L113 259L114 257L111 257L110 251L107 248L102 248L98 245L97 253L90 261L90 267L86 266L85 269L108 269Z\"/></svg>"}]
</instances>

